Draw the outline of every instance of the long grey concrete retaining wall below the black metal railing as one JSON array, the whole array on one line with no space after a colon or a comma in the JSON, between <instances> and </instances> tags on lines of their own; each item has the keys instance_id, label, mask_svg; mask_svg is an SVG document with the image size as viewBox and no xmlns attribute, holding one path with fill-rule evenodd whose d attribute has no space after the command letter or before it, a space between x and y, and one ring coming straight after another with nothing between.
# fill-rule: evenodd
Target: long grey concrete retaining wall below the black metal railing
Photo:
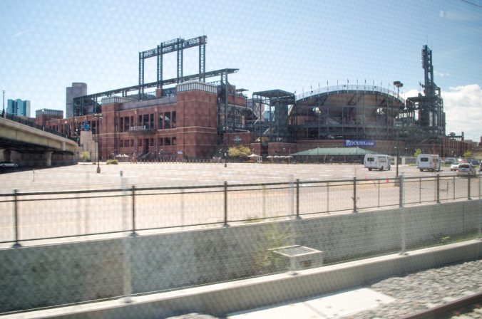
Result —
<instances>
[{"instance_id":1,"label":"long grey concrete retaining wall below the black metal railing","mask_svg":"<svg viewBox=\"0 0 482 319\"><path fill-rule=\"evenodd\" d=\"M403 214L403 215L402 215ZM324 261L438 243L478 229L478 201L339 214L278 223L0 250L0 311L257 276L263 251L300 244Z\"/></svg>"}]
</instances>

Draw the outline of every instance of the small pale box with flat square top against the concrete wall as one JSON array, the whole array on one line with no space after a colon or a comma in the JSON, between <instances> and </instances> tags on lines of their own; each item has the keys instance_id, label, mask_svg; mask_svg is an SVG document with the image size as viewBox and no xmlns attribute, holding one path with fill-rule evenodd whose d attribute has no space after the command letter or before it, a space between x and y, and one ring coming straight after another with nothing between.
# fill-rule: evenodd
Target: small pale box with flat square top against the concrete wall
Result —
<instances>
[{"instance_id":1,"label":"small pale box with flat square top against the concrete wall","mask_svg":"<svg viewBox=\"0 0 482 319\"><path fill-rule=\"evenodd\" d=\"M272 253L288 258L289 273L296 275L297 271L323 266L323 251L305 246L293 245L268 249Z\"/></svg>"}]
</instances>

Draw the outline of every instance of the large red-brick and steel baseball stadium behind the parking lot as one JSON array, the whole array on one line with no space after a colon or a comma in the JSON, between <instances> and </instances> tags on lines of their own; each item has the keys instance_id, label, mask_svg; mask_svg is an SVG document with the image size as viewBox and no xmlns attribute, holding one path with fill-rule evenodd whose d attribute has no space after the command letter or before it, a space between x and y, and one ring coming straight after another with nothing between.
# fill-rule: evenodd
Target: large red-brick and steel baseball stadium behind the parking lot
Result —
<instances>
[{"instance_id":1,"label":"large red-brick and steel baseball stadium behind the parking lot","mask_svg":"<svg viewBox=\"0 0 482 319\"><path fill-rule=\"evenodd\" d=\"M462 155L471 145L446 136L443 100L433 80L431 51L422 49L424 96L404 100L381 85L337 85L295 96L283 90L248 99L227 77L237 69L205 71L200 36L177 38L139 53L139 84L73 99L73 117L44 122L78 138L91 130L101 160L129 155L134 160L209 159L231 145L258 155L289 155L314 147L347 147L347 140L370 142L371 150L411 155L416 148L442 156ZM183 50L199 48L199 73L183 75ZM178 73L163 79L163 55L177 53ZM157 80L144 83L144 61L156 57ZM220 76L214 83L206 78ZM168 87L168 85L171 85ZM174 85L174 86L173 86ZM395 87L397 90L395 91ZM145 89L155 88L154 93ZM136 91L136 94L128 94Z\"/></svg>"}]
</instances>

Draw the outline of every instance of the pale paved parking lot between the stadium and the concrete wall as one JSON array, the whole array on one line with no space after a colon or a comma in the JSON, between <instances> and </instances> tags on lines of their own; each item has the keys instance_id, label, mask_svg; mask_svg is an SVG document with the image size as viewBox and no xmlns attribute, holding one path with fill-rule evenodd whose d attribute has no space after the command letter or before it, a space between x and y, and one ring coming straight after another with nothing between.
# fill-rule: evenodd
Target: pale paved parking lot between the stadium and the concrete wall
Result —
<instances>
[{"instance_id":1,"label":"pale paved parking lot between the stadium and the concrete wall","mask_svg":"<svg viewBox=\"0 0 482 319\"><path fill-rule=\"evenodd\" d=\"M436 200L436 173L419 172L401 166L406 187L405 204ZM122 172L122 177L120 172ZM467 199L468 179L442 171L441 201ZM354 210L353 177L376 179L357 185L357 210L398 206L399 187L391 171L371 171L361 164L78 164L70 167L11 171L0 174L0 193L72 191L71 194L19 197L17 224L20 240L83 236L116 231L168 231L174 227L222 226L245 219L280 219L299 214L304 218L320 214L347 214ZM415 177L414 179L410 179ZM299 195L294 182L299 179ZM344 180L345 182L335 182ZM314 181L321 181L314 183ZM225 193L222 184L230 185ZM282 182L276 187L231 187L237 184ZM142 187L173 187L167 190L135 191ZM177 187L215 185L214 188ZM471 194L480 194L480 179L471 179ZM82 194L79 189L125 189L103 194ZM14 197L2 197L11 201ZM296 200L299 198L299 205ZM132 219L133 207L135 219ZM298 208L297 208L298 207ZM0 242L15 238L14 203L0 202ZM225 214L226 212L226 214ZM142 232L140 234L143 234ZM122 236L122 233L108 236ZM107 235L105 235L107 236ZM82 237L77 238L81 239ZM83 237L86 238L86 237ZM70 239L69 239L70 240ZM24 245L25 245L24 244ZM11 245L9 243L0 246Z\"/></svg>"}]
</instances>

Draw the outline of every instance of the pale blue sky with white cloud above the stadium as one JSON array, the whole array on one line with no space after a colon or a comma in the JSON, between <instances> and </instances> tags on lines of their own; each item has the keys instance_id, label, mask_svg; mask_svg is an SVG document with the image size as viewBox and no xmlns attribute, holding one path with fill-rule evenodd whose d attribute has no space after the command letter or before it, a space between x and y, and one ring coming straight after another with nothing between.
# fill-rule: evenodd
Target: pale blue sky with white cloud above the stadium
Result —
<instances>
[{"instance_id":1,"label":"pale blue sky with white cloud above the stadium","mask_svg":"<svg viewBox=\"0 0 482 319\"><path fill-rule=\"evenodd\" d=\"M434 53L447 132L482 135L482 0L57 1L4 0L0 89L6 99L65 111L66 87L88 93L138 83L138 52L205 34L206 70L239 68L238 88L297 93L337 83L404 83L419 90L421 47ZM153 61L150 61L153 60ZM155 80L148 60L145 81ZM184 74L198 70L185 51ZM175 55L164 78L175 77ZM213 79L217 80L217 79Z\"/></svg>"}]
</instances>

